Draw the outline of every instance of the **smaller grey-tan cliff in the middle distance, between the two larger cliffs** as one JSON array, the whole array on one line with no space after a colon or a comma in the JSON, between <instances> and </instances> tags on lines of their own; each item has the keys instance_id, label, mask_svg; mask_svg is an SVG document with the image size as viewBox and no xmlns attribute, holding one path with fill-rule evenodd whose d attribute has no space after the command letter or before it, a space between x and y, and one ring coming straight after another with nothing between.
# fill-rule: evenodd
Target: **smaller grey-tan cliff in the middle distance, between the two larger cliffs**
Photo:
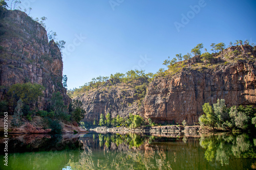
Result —
<instances>
[{"instance_id":1,"label":"smaller grey-tan cliff in the middle distance, between the two larger cliffs","mask_svg":"<svg viewBox=\"0 0 256 170\"><path fill-rule=\"evenodd\" d=\"M97 90L87 91L75 98L83 104L86 110L84 121L93 122L100 119L100 114L110 113L112 117L129 116L129 113L138 113L135 90L124 83L116 86L103 86Z\"/></svg>"}]
</instances>

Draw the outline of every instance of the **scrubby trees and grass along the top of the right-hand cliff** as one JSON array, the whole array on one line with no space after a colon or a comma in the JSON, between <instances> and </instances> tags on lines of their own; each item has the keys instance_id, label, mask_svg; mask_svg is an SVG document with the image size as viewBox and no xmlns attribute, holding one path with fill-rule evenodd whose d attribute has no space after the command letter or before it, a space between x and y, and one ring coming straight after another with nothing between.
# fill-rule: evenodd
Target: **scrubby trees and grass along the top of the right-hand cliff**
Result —
<instances>
[{"instance_id":1,"label":"scrubby trees and grass along the top of the right-hand cliff","mask_svg":"<svg viewBox=\"0 0 256 170\"><path fill-rule=\"evenodd\" d=\"M184 56L182 56L182 54L176 54L176 56L173 59L170 59L170 57L168 57L168 59L164 60L163 62L163 65L165 65L168 69L165 70L164 68L160 68L159 71L155 75L153 75L153 77L174 76L184 69L195 69L198 71L204 71L204 68L216 69L220 65L236 62L240 59L255 61L255 57L251 55L251 53L245 53L243 51L243 48L241 48L240 46L232 46L232 44L232 42L230 42L229 44L231 51L229 53L224 53L226 61L222 61L218 58L221 57L220 52L224 51L226 47L226 45L223 42L217 44L212 43L210 46L212 47L211 51L213 51L214 53L211 54L207 52L206 48L206 52L202 54L202 48L204 47L204 45L203 43L199 43L191 50L191 53L195 56L194 60L190 60L191 54L189 53L187 53ZM244 43L242 40L237 40L237 43L234 43L234 45L236 44L249 45L250 43L248 40L244 41ZM251 45L254 44L251 43ZM254 46L254 49L256 49L256 46ZM204 62L204 65L198 59Z\"/></svg>"}]
</instances>

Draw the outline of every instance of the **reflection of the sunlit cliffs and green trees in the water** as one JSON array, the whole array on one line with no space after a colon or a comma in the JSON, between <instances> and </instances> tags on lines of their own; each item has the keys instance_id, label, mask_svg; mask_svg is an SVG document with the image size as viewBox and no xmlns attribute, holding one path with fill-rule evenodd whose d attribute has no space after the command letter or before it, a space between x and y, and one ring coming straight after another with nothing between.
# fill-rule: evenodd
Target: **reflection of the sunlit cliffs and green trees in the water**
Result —
<instances>
[{"instance_id":1,"label":"reflection of the sunlit cliffs and green trees in the water","mask_svg":"<svg viewBox=\"0 0 256 170\"><path fill-rule=\"evenodd\" d=\"M256 167L256 139L250 138L247 134L223 133L176 138L145 134L87 134L81 136L79 140L83 152L79 161L69 161L68 166L72 169Z\"/></svg>"}]
</instances>

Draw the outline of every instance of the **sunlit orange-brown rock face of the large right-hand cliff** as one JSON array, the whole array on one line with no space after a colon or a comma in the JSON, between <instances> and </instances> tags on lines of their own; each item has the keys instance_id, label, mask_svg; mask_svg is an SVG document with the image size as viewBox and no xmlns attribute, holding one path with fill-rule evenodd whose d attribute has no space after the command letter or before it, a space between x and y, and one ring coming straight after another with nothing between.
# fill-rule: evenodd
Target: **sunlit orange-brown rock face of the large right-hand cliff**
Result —
<instances>
[{"instance_id":1,"label":"sunlit orange-brown rock face of the large right-hand cliff","mask_svg":"<svg viewBox=\"0 0 256 170\"><path fill-rule=\"evenodd\" d=\"M216 61L213 61L223 60L216 68L185 68L173 77L156 78L148 85L141 115L159 123L181 124L186 120L192 125L198 122L203 113L204 103L214 104L218 99L225 99L227 107L255 106L255 60L225 63L224 58L234 50L238 50L241 55L253 55L255 58L252 47L247 47L238 46L222 52Z\"/></svg>"}]
</instances>

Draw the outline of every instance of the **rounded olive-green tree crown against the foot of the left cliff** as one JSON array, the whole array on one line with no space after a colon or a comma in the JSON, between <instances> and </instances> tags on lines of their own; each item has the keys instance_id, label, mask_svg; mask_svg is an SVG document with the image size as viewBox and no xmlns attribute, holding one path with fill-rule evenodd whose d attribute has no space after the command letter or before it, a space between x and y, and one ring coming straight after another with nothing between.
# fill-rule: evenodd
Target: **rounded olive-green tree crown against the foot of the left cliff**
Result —
<instances>
[{"instance_id":1,"label":"rounded olive-green tree crown against the foot of the left cliff","mask_svg":"<svg viewBox=\"0 0 256 170\"><path fill-rule=\"evenodd\" d=\"M24 84L13 84L9 90L8 95L10 96L11 105L15 105L15 103L20 99L26 105L32 105L38 98L42 96L42 90L45 90L45 87L39 84L32 84L30 82Z\"/></svg>"}]
</instances>

